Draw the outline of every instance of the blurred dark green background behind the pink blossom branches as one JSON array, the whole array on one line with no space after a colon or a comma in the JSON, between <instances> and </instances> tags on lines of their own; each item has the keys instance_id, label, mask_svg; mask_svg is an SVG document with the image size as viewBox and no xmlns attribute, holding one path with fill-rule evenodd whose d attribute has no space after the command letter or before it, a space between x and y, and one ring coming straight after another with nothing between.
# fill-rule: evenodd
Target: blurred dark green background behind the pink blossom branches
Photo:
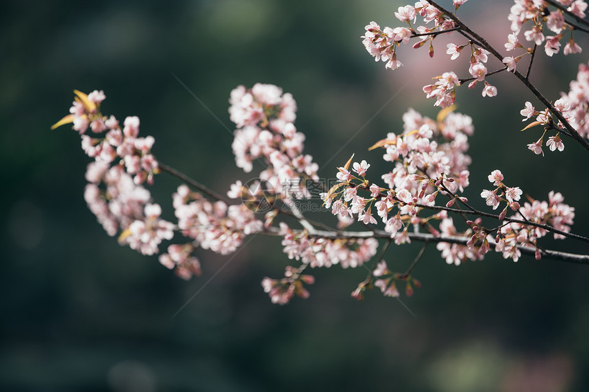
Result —
<instances>
[{"instance_id":1,"label":"blurred dark green background behind the pink blossom branches","mask_svg":"<svg viewBox=\"0 0 589 392\"><path fill-rule=\"evenodd\" d=\"M509 4L473 0L460 15L503 49ZM368 146L399 132L408 107L436 115L421 92L430 77L450 69L467 75L466 60L451 63L442 39L434 60L427 49L404 47L405 67L391 72L375 64L362 47L364 25L399 25L399 5L4 3L0 389L587 391L589 266L489 254L455 267L430 246L414 270L423 288L401 298L410 311L377 292L355 302L349 294L365 271L339 267L313 271L308 300L276 306L260 281L281 276L288 264L278 239L256 237L224 268L227 257L201 250L203 275L180 280L156 257L122 248L103 232L82 197L88 159L79 137L68 127L49 130L68 113L73 89L104 90L104 113L139 116L159 159L225 192L253 176L235 168L231 133L172 73L227 127L230 90L260 81L297 99L297 127L321 176L333 177L351 153L368 159L373 175L385 172L381 153ZM532 79L556 99L586 59L547 61L540 53ZM518 131L518 112L532 97L515 80L493 77L494 99L483 99L480 88L459 91L458 110L475 124L466 194L483 207L479 193L498 168L507 184L535 198L560 190L577 207L573 230L588 235L587 153L568 140L564 153L527 151L539 134ZM155 183L153 195L171 217L178 183L164 175ZM575 241L545 244L589 251ZM419 249L393 246L385 259L403 271Z\"/></svg>"}]
</instances>

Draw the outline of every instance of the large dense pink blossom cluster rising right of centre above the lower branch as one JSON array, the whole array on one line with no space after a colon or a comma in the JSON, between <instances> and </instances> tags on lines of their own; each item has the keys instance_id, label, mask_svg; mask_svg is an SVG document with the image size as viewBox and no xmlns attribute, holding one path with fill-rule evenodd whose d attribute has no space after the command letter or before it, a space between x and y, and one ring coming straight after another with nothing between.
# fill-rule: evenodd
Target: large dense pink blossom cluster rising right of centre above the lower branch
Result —
<instances>
[{"instance_id":1,"label":"large dense pink blossom cluster rising right of centre above the lower branch","mask_svg":"<svg viewBox=\"0 0 589 392\"><path fill-rule=\"evenodd\" d=\"M357 215L358 221L364 224L376 224L374 214L378 215L385 223L384 230L397 244L410 241L408 223L435 230L429 224L431 218L421 218L420 212L435 205L440 192L462 192L468 186L471 163L466 151L468 135L473 133L472 119L450 111L451 108L443 109L438 121L413 109L403 114L403 133L388 133L386 139L373 146L385 148L384 160L394 164L381 177L388 187L371 184L366 179L370 166L366 161L356 162L351 172L346 165L338 168L340 183L323 194L326 207L331 207L334 215ZM370 197L360 196L359 190L370 192Z\"/></svg>"}]
</instances>

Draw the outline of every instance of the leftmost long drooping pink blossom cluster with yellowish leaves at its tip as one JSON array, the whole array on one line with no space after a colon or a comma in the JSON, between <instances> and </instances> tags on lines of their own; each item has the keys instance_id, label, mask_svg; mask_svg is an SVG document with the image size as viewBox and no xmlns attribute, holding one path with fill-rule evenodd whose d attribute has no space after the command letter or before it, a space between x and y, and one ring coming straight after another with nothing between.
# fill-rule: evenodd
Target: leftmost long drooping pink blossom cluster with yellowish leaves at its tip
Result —
<instances>
[{"instance_id":1,"label":"leftmost long drooping pink blossom cluster with yellowish leaves at its tip","mask_svg":"<svg viewBox=\"0 0 589 392\"><path fill-rule=\"evenodd\" d=\"M108 235L142 254L158 252L163 239L173 237L174 225L160 219L162 209L151 204L151 194L142 183L151 183L158 161L151 155L154 139L138 137L139 119L127 117L123 129L114 116L103 116L105 94L75 91L70 114L53 125L73 123L82 138L82 149L95 161L86 169L84 198ZM92 136L86 132L90 129ZM102 135L100 138L98 135Z\"/></svg>"}]
</instances>

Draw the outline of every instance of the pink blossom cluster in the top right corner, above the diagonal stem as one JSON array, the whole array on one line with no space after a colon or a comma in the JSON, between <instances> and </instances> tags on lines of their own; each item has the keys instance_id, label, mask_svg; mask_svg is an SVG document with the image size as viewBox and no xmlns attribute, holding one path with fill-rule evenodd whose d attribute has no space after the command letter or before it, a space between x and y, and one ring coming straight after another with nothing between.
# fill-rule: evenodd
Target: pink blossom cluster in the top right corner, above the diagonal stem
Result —
<instances>
[{"instance_id":1,"label":"pink blossom cluster in the top right corner, above the diagonal stem","mask_svg":"<svg viewBox=\"0 0 589 392\"><path fill-rule=\"evenodd\" d=\"M570 12L579 18L585 17L585 10L587 9L587 3L584 0L557 0L560 4L564 5L566 12ZM548 56L552 56L558 53L561 44L560 40L564 37L566 31L570 31L570 38L564 45L563 53L568 55L569 53L581 53L581 47L573 39L573 25L568 23L564 18L565 14L563 10L555 9L549 10L548 3L543 0L515 0L514 5L510 10L507 18L512 23L511 30L512 34L507 37L507 43L505 49L512 51L517 48L522 48L523 45L519 42L518 36L521 34L524 26L527 22L531 22L527 27L529 29L523 32L525 40L528 42L534 42L536 45L544 43L544 52ZM553 36L544 36L545 28L551 31ZM526 53L528 53L527 50ZM526 54L524 53L524 55ZM523 57L505 57L503 62L507 65L510 70L514 70L516 63Z\"/></svg>"}]
</instances>

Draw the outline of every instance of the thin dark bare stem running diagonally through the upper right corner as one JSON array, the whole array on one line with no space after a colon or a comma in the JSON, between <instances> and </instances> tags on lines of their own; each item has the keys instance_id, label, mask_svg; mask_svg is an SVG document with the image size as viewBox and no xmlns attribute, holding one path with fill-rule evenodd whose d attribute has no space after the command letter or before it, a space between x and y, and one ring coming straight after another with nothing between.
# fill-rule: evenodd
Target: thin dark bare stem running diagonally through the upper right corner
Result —
<instances>
[{"instance_id":1,"label":"thin dark bare stem running diagonally through the upper right corner","mask_svg":"<svg viewBox=\"0 0 589 392\"><path fill-rule=\"evenodd\" d=\"M473 36L473 38L475 38L476 40L478 40L480 42L480 44L481 44L481 47L484 47L484 49L486 49L487 51L489 51L495 58L497 58L497 60L499 60L500 62L503 61L503 55L501 55L501 53L499 53L499 51L497 51L497 49L494 49L494 47L492 47L483 37L479 36L479 34L477 34L475 31L473 31L470 27L468 27L467 25L465 25L464 23L462 23L462 21L460 21L460 19L457 18L454 14L452 14L451 12L449 12L448 10L446 10L445 8L443 8L441 5L439 5L438 3L436 3L436 1L434 1L434 0L428 0L428 2L431 5L434 5L434 7L438 8L438 10L440 10L441 12L443 12L446 16L448 16L449 18L451 18L451 20L456 25L458 25L463 31L466 31L466 33L468 33L469 35ZM552 105L552 103L550 101L548 101L548 99L546 99L546 97L544 97L544 95L542 95L542 93L540 91L538 91L538 89L536 88L536 86L534 86L534 84L532 84L529 81L529 79L527 79L518 70L514 70L513 73L514 73L514 75L516 75L516 77L518 77L518 79L520 79L524 83L524 85L528 88L528 90L530 90L532 92L532 94L534 94L534 96L536 96L536 98L540 102L542 102L542 105L548 107L549 110L550 110L550 112L560 122L562 122L562 125L564 125L564 127L568 131L565 134L568 135L568 136L570 136L571 138L573 138L577 142L579 142L579 144L581 144L581 146L583 146L587 151L589 151L589 142L585 138L583 138L581 135L579 135L579 133L575 130L575 128L573 128L573 126L568 123L568 121L564 118L564 116L562 116L562 113L560 113L554 107L554 105Z\"/></svg>"}]
</instances>

